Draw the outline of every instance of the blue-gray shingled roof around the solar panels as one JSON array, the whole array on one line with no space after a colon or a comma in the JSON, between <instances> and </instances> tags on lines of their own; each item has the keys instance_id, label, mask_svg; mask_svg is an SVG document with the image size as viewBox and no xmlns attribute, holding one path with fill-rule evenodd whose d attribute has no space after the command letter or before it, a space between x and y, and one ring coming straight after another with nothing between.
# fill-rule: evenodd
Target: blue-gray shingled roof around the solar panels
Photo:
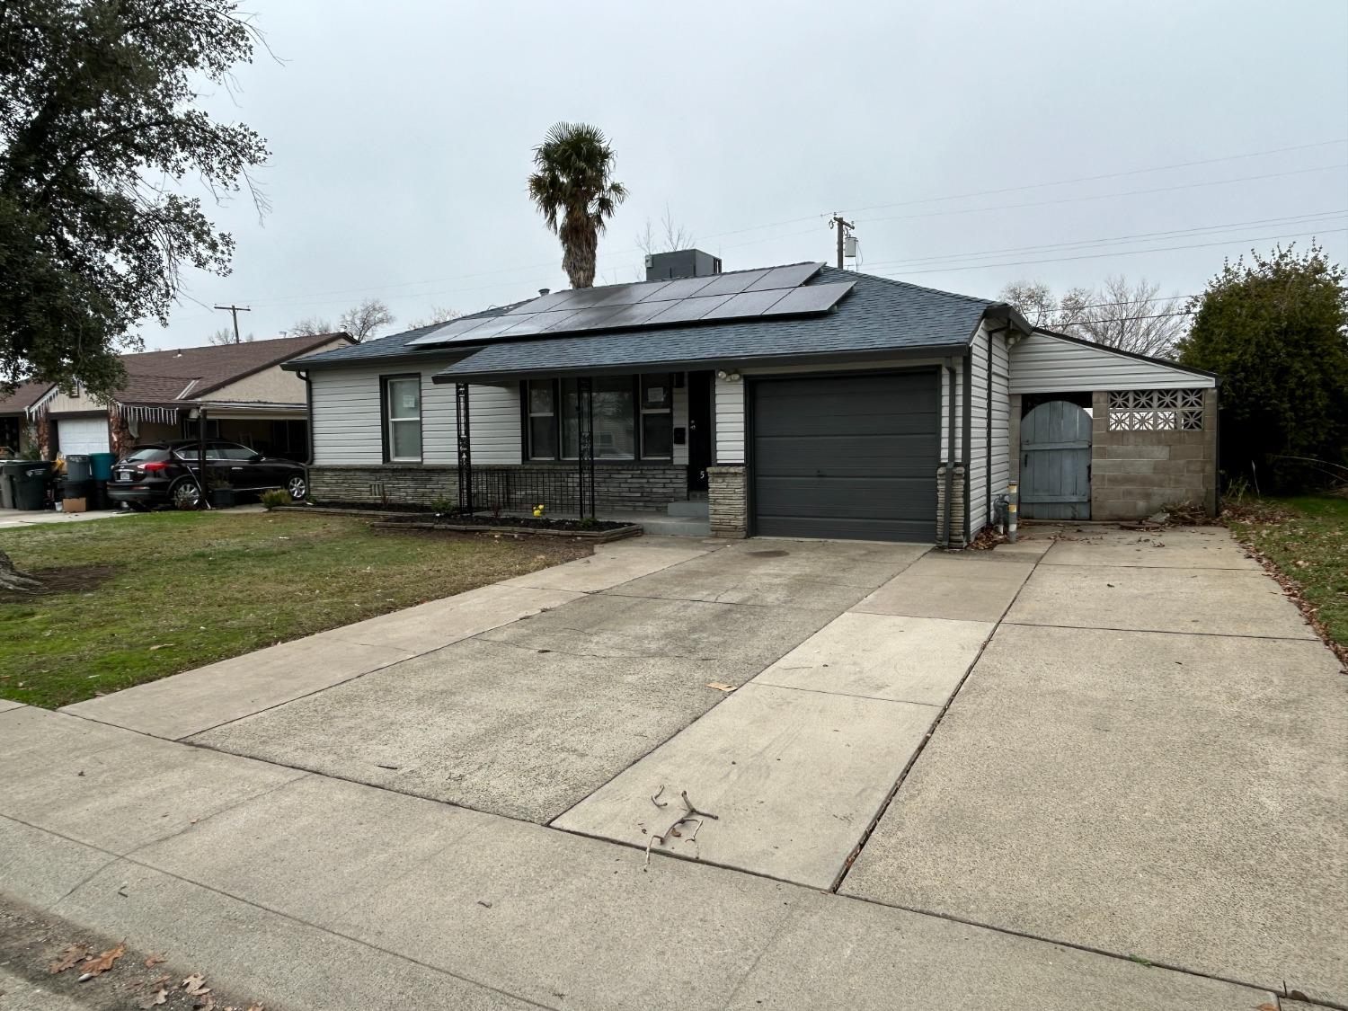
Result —
<instances>
[{"instance_id":1,"label":"blue-gray shingled roof around the solar panels","mask_svg":"<svg viewBox=\"0 0 1348 1011\"><path fill-rule=\"evenodd\" d=\"M435 381L506 380L523 375L681 368L758 360L813 360L848 355L960 353L999 302L937 291L833 267L807 283L855 282L851 294L822 315L759 317L682 326L538 334L518 340L464 341L456 346L408 346L435 326L311 355L286 368L328 368L373 361L458 359ZM516 303L523 305L523 303ZM497 315L515 306L477 315ZM1014 313L1014 310L1010 310ZM1014 315L1018 325L1029 325Z\"/></svg>"}]
</instances>

